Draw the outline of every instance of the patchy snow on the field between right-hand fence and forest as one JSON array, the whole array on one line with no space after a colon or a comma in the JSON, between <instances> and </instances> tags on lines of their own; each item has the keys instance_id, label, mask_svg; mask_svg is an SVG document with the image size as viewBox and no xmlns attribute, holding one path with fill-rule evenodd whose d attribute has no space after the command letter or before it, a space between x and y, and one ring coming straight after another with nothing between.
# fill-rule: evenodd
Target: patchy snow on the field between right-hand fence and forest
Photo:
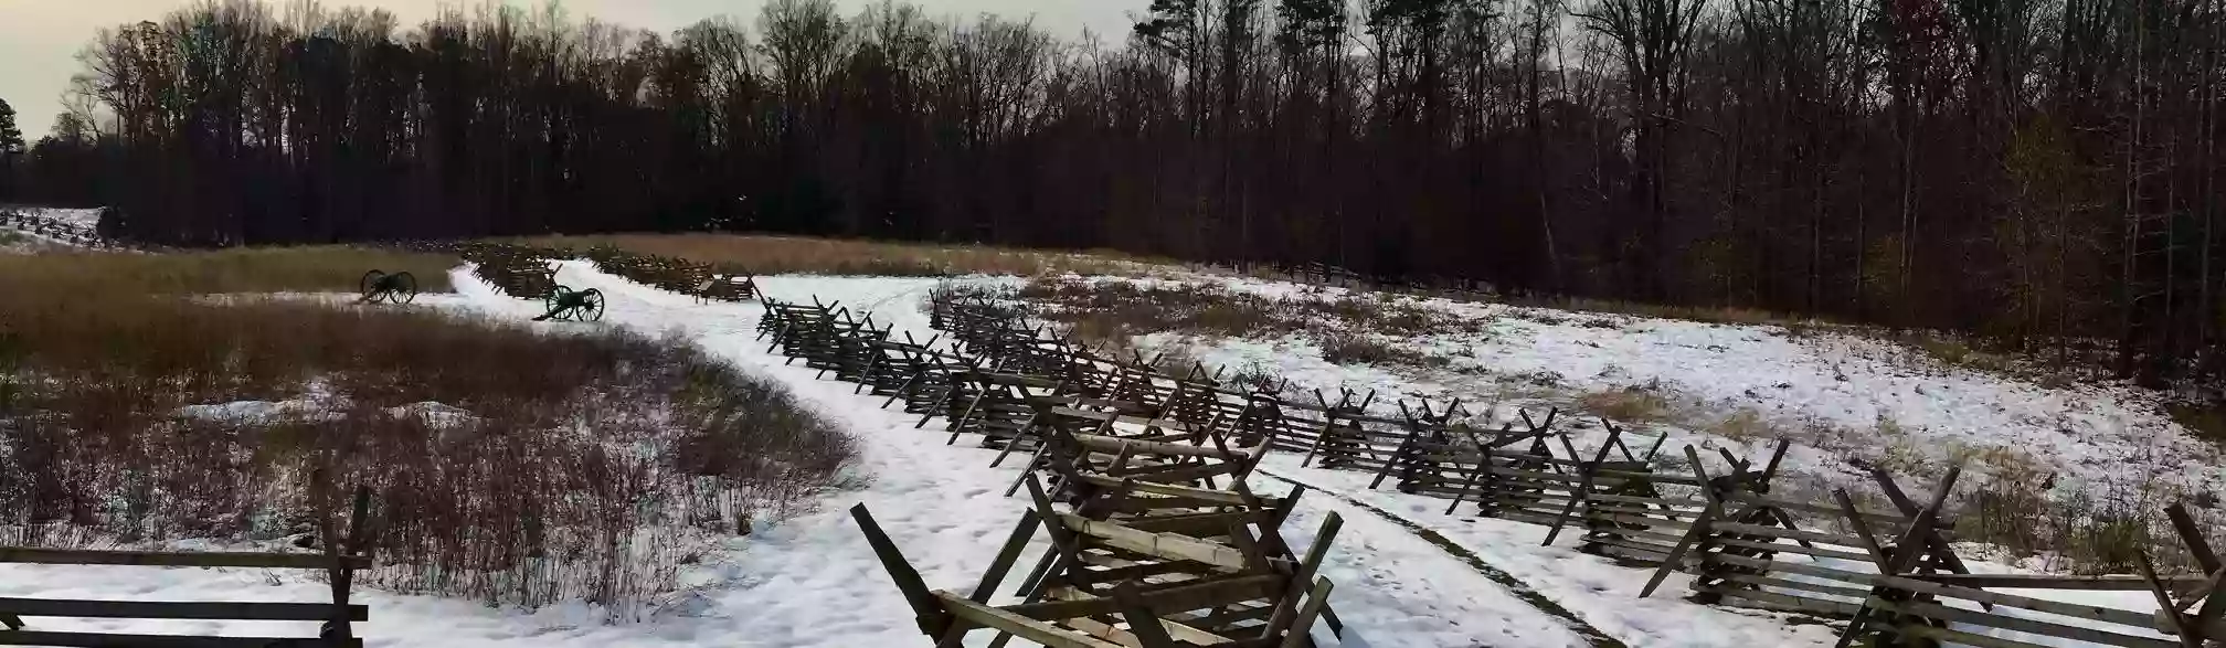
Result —
<instances>
[{"instance_id":1,"label":"patchy snow on the field between right-hand fence and forest","mask_svg":"<svg viewBox=\"0 0 2226 648\"><path fill-rule=\"evenodd\" d=\"M1333 301L1342 287L1311 287L1244 276L1106 278L1135 285L1215 283L1273 298ZM1371 296L1485 323L1483 332L1385 338L1447 359L1445 370L1336 365L1304 334L1253 338L1142 336L1142 347L1182 345L1206 365L1264 367L1304 387L1376 390L1398 399L1500 405L1572 405L1605 390L1654 390L1701 419L1754 412L1767 439L1674 432L1683 443L1734 445L1763 454L1779 436L1794 441L1785 472L1834 485L1863 485L1854 461L1908 452L1946 465L1954 456L1994 456L2057 474L2059 494L2153 499L2226 494L2219 448L2175 423L2155 392L2115 383L2041 385L2019 376L1943 365L1921 352L1843 332L1790 332L1779 325L1723 325L1623 314ZM1471 408L1480 410L1480 408ZM1496 419L1505 421L1511 408ZM1997 465L1968 465L1988 474Z\"/></svg>"}]
</instances>

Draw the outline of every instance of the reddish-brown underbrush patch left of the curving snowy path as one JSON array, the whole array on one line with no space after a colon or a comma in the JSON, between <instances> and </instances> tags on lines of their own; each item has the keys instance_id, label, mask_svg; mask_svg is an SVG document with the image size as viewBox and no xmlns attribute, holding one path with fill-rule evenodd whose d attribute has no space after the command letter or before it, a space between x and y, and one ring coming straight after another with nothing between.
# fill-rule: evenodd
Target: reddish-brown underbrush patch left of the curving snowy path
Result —
<instances>
[{"instance_id":1,"label":"reddish-brown underbrush patch left of the curving snowy path","mask_svg":"<svg viewBox=\"0 0 2226 648\"><path fill-rule=\"evenodd\" d=\"M623 619L855 454L677 338L176 296L354 289L370 265L445 278L307 254L327 252L0 261L0 543L307 546L365 485L365 583ZM120 276L62 272L87 265Z\"/></svg>"}]
</instances>

